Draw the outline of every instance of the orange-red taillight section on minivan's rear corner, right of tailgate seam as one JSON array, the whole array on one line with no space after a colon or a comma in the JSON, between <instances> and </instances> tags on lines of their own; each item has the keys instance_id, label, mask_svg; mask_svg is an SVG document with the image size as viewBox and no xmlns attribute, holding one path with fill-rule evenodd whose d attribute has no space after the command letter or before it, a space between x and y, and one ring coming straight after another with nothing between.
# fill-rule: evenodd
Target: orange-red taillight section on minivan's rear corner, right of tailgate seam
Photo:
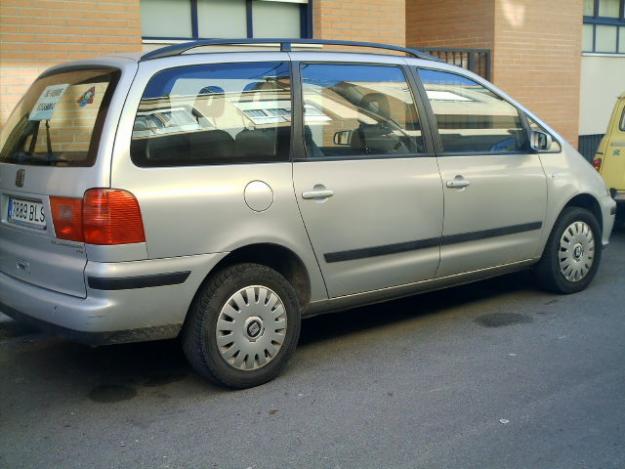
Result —
<instances>
[{"instance_id":1,"label":"orange-red taillight section on minivan's rear corner, right of tailgate seam","mask_svg":"<svg viewBox=\"0 0 625 469\"><path fill-rule=\"evenodd\" d=\"M139 202L119 189L89 189L82 204L85 243L128 244L145 241Z\"/></svg>"}]
</instances>

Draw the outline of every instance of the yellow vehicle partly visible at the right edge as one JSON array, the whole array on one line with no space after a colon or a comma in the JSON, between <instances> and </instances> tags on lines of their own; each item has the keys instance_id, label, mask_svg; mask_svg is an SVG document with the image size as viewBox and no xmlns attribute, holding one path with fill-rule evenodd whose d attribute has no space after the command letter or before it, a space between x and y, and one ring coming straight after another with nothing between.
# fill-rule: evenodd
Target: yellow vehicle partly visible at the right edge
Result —
<instances>
[{"instance_id":1,"label":"yellow vehicle partly visible at the right edge","mask_svg":"<svg viewBox=\"0 0 625 469\"><path fill-rule=\"evenodd\" d=\"M611 189L625 190L625 99L617 102L606 135L601 175Z\"/></svg>"}]
</instances>

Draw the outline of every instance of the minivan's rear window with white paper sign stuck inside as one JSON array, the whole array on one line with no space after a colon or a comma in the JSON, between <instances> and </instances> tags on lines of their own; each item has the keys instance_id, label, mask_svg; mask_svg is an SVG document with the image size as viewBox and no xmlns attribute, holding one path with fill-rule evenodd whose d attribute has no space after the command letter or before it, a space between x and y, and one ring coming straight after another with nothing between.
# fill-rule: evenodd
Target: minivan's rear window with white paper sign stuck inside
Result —
<instances>
[{"instance_id":1,"label":"minivan's rear window with white paper sign stuck inside","mask_svg":"<svg viewBox=\"0 0 625 469\"><path fill-rule=\"evenodd\" d=\"M55 73L37 80L0 137L0 162L91 166L119 78L111 68Z\"/></svg>"}]
</instances>

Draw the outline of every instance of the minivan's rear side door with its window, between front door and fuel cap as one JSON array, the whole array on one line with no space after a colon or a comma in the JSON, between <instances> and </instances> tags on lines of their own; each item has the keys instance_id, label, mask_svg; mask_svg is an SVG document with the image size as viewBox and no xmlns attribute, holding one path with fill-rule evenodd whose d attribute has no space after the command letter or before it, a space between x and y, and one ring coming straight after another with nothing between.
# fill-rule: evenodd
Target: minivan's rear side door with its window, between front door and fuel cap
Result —
<instances>
[{"instance_id":1,"label":"minivan's rear side door with its window, between front door and fuel cap","mask_svg":"<svg viewBox=\"0 0 625 469\"><path fill-rule=\"evenodd\" d=\"M432 278L443 195L404 71L295 66L305 141L295 193L330 297Z\"/></svg>"}]
</instances>

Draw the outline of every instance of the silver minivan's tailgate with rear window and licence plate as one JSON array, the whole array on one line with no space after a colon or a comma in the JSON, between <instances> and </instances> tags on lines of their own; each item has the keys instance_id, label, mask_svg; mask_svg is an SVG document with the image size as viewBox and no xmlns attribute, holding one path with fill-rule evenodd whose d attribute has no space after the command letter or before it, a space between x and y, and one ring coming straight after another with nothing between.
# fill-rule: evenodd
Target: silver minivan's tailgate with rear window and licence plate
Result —
<instances>
[{"instance_id":1,"label":"silver minivan's tailgate with rear window and licence plate","mask_svg":"<svg viewBox=\"0 0 625 469\"><path fill-rule=\"evenodd\" d=\"M102 186L96 153L118 78L110 68L48 75L12 113L0 140L1 273L86 295L85 246L58 238L50 196L81 198L85 189Z\"/></svg>"}]
</instances>

